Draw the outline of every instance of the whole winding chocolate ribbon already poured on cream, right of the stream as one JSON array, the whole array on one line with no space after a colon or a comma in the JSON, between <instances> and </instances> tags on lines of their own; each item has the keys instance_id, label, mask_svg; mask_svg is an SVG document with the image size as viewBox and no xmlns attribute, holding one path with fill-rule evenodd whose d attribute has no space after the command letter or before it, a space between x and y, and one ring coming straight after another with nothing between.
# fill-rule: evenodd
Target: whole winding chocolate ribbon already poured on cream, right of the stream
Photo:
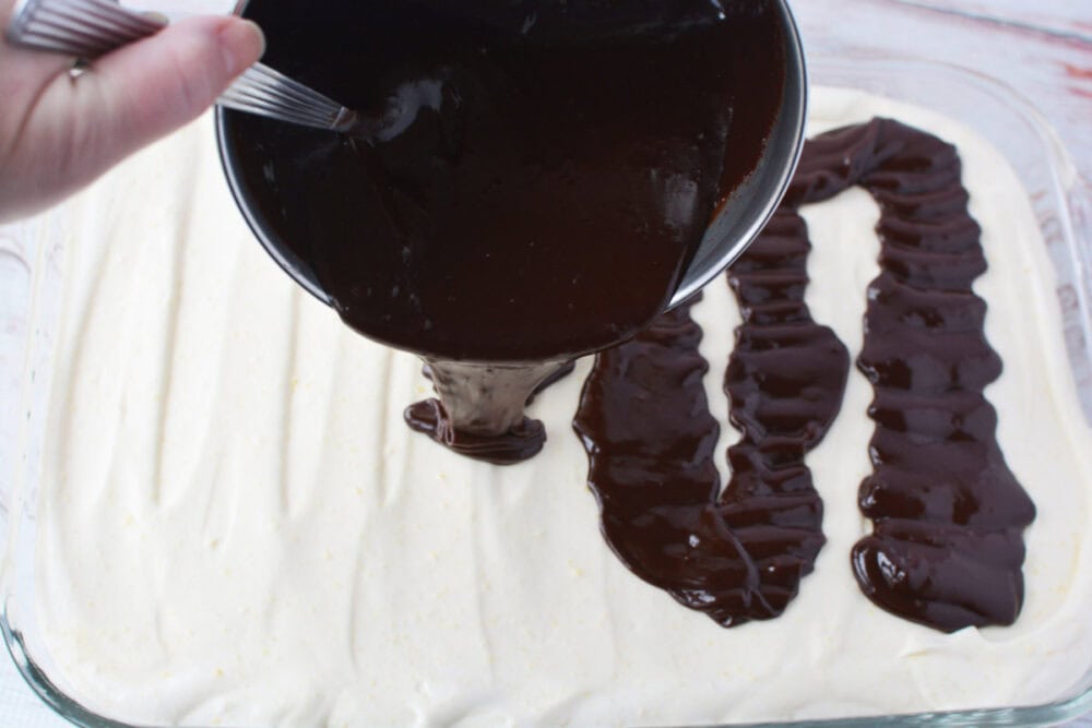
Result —
<instances>
[{"instance_id":1,"label":"whole winding chocolate ribbon already poured on cream, right of the stream","mask_svg":"<svg viewBox=\"0 0 1092 728\"><path fill-rule=\"evenodd\" d=\"M804 305L797 210L859 184L879 203L880 275L857 359L876 392L874 473L859 503L875 530L853 549L865 594L943 631L1010 624L1023 528L1035 509L1005 464L983 396L1001 362L985 339L986 267L950 144L895 121L807 143L773 220L729 270L744 312L725 375L732 481L719 493L689 308L596 357L574 427L612 549L641 578L725 626L779 614L823 544L804 454L833 420L847 355Z\"/></svg>"}]
</instances>

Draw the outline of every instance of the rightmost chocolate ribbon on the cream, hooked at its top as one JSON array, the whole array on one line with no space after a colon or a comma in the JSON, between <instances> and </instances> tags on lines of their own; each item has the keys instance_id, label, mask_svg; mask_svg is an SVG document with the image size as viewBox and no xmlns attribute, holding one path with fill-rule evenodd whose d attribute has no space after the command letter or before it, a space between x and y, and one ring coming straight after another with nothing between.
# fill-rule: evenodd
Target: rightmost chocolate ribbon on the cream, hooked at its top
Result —
<instances>
[{"instance_id":1,"label":"rightmost chocolate ribbon on the cream, hooked at its top","mask_svg":"<svg viewBox=\"0 0 1092 728\"><path fill-rule=\"evenodd\" d=\"M871 536L853 549L864 593L945 632L1011 624L1023 600L1023 528L1035 508L997 445L983 389L1001 372L986 342L986 270L956 148L877 119L809 143L793 202L859 184L879 203L880 275L868 287L857 367L873 383Z\"/></svg>"}]
</instances>

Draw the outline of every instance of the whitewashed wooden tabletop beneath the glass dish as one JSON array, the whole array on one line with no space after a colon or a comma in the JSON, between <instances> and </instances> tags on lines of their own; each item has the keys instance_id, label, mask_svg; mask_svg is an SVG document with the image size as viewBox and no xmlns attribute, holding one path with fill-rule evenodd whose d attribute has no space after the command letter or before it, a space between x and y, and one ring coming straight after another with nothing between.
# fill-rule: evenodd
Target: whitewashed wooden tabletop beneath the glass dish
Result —
<instances>
[{"instance_id":1,"label":"whitewashed wooden tabletop beneath the glass dish","mask_svg":"<svg viewBox=\"0 0 1092 728\"><path fill-rule=\"evenodd\" d=\"M1092 188L1092 0L791 0L809 52L931 58L1006 81L1055 127ZM127 2L127 4L129 4ZM138 4L138 2L133 2ZM215 11L233 0L143 0ZM62 728L0 656L0 727ZM1092 728L1092 719L1071 724Z\"/></svg>"}]
</instances>

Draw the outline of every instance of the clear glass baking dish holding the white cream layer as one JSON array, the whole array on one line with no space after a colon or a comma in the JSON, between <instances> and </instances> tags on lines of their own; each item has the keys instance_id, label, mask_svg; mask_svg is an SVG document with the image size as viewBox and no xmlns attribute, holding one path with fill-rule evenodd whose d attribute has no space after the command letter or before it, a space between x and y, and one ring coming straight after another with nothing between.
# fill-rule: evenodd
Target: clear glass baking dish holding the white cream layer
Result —
<instances>
[{"instance_id":1,"label":"clear glass baking dish holding the white cream layer","mask_svg":"<svg viewBox=\"0 0 1092 728\"><path fill-rule=\"evenodd\" d=\"M1005 154L1026 187L1055 267L1069 361L1085 417L1092 421L1092 191L1082 186L1034 107L996 80L919 60L812 58L809 73L816 84L936 109L975 129ZM93 714L70 696L35 616L35 510L63 246L48 216L0 229L0 633L27 683L59 716L76 726L124 728L130 724ZM1056 724L1092 711L1092 655L1085 664L1083 675L1067 681L1072 687L1045 705L984 705L975 711L781 725Z\"/></svg>"}]
</instances>

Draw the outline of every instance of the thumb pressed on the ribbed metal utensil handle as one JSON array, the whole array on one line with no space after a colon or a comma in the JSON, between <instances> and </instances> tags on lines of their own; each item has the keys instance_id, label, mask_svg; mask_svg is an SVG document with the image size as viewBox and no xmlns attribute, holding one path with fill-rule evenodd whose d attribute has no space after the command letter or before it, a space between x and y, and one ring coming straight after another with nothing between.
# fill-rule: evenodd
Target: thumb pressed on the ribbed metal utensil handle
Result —
<instances>
[{"instance_id":1,"label":"thumb pressed on the ribbed metal utensil handle","mask_svg":"<svg viewBox=\"0 0 1092 728\"><path fill-rule=\"evenodd\" d=\"M250 21L190 17L98 59L73 84L86 162L100 171L192 121L264 49Z\"/></svg>"}]
</instances>

